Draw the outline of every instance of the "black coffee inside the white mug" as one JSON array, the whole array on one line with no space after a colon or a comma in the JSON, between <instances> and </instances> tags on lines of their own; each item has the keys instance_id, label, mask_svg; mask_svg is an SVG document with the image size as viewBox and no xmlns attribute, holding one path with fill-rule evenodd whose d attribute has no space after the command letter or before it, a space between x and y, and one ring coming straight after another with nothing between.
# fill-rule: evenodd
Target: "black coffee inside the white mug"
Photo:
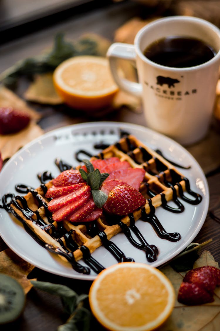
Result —
<instances>
[{"instance_id":1,"label":"black coffee inside the white mug","mask_svg":"<svg viewBox=\"0 0 220 331\"><path fill-rule=\"evenodd\" d=\"M187 68L209 61L216 52L201 40L170 36L153 42L145 48L143 54L149 60L166 67Z\"/></svg>"}]
</instances>

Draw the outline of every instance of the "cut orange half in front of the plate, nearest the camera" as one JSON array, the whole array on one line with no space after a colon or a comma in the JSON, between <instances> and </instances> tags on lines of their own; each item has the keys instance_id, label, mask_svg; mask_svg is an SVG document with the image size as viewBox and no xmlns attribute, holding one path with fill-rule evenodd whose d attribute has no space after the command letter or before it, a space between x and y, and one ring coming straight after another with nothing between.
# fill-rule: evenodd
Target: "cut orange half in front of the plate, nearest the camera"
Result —
<instances>
[{"instance_id":1,"label":"cut orange half in front of the plate, nearest the camera","mask_svg":"<svg viewBox=\"0 0 220 331\"><path fill-rule=\"evenodd\" d=\"M158 269L137 262L122 262L104 269L89 291L97 320L114 331L149 331L171 314L175 294L169 279Z\"/></svg>"}]
</instances>

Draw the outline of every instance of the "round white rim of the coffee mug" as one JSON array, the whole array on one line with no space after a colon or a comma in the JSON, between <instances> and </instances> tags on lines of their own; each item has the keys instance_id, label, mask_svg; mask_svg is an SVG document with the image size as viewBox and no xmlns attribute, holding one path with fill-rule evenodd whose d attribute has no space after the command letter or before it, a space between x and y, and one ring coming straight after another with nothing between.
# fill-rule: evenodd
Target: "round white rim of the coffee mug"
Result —
<instances>
[{"instance_id":1,"label":"round white rim of the coffee mug","mask_svg":"<svg viewBox=\"0 0 220 331\"><path fill-rule=\"evenodd\" d=\"M191 22L193 21L193 22L203 23L206 26L212 28L216 32L216 34L218 34L219 40L220 40L220 29L216 25L214 25L211 22L208 22L204 19L201 19L201 18L198 18L198 17L193 17L193 16L178 16L178 15L159 18L159 19L156 19L156 20L146 24L145 26L143 26L135 36L134 47L135 47L135 50L136 50L136 54L141 58L141 60L143 60L145 63L150 64L151 66L154 66L157 69L169 70L169 71L180 71L180 70L181 71L193 71L193 70L197 70L197 69L200 69L200 68L207 67L207 66L211 65L213 62L216 62L220 58L220 47L219 47L219 51L214 55L214 57L212 59L210 59L209 61L204 62L200 65L193 66L193 67L182 67L182 68L167 67L167 66L157 64L157 63L149 60L148 58L146 58L143 55L143 53L141 52L141 49L140 49L140 38L141 38L141 36L143 35L143 33L147 29L151 28L153 25L157 25L160 22L171 21L171 20L173 20L173 21L181 20L181 21L191 21Z\"/></svg>"}]
</instances>

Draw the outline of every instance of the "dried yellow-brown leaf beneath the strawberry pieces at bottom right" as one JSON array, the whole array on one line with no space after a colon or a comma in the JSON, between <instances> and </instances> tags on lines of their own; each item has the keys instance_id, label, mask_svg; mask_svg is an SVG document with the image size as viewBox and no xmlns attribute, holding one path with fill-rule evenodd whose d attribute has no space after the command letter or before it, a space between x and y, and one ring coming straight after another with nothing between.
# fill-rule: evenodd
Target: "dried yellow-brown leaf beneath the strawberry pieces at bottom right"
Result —
<instances>
[{"instance_id":1,"label":"dried yellow-brown leaf beneath the strawberry pieces at bottom right","mask_svg":"<svg viewBox=\"0 0 220 331\"><path fill-rule=\"evenodd\" d=\"M193 268L203 265L219 267L213 256L204 251L200 258L194 263ZM186 272L175 272L170 265L160 269L172 282L176 298L179 286ZM201 306L186 306L177 300L171 316L159 328L159 331L215 331L220 325L220 287L215 289L214 302ZM197 318L199 316L199 318Z\"/></svg>"}]
</instances>

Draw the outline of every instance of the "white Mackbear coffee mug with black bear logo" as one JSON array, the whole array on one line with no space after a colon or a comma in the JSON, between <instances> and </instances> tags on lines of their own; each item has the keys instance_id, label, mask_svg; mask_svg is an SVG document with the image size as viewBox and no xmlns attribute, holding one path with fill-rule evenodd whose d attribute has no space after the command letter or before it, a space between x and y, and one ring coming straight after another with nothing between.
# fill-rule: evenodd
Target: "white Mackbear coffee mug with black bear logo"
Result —
<instances>
[{"instance_id":1,"label":"white Mackbear coffee mug with black bear logo","mask_svg":"<svg viewBox=\"0 0 220 331\"><path fill-rule=\"evenodd\" d=\"M147 46L168 36L199 39L216 54L203 64L187 68L159 65L143 55ZM112 44L107 57L118 86L142 98L148 127L183 145L195 143L206 135L219 77L220 30L215 25L188 16L158 19L137 33L134 45ZM139 82L131 82L119 74L117 59L136 62Z\"/></svg>"}]
</instances>

